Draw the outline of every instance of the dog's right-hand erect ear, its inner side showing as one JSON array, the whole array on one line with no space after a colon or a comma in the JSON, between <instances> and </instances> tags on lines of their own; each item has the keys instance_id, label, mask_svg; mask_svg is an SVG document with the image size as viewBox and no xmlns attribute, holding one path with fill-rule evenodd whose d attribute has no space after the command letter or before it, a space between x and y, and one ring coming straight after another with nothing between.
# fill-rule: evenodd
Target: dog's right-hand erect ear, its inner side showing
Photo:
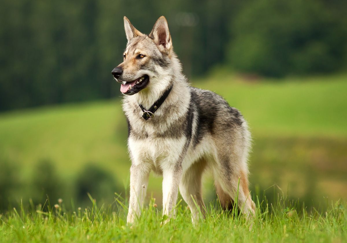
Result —
<instances>
[{"instance_id":1,"label":"dog's right-hand erect ear, its inner side showing","mask_svg":"<svg viewBox=\"0 0 347 243\"><path fill-rule=\"evenodd\" d=\"M156 20L151 34L149 34L155 44L158 46L161 51L169 51L172 47L172 41L168 26L168 21L164 16L161 16L158 20Z\"/></svg>"}]
</instances>

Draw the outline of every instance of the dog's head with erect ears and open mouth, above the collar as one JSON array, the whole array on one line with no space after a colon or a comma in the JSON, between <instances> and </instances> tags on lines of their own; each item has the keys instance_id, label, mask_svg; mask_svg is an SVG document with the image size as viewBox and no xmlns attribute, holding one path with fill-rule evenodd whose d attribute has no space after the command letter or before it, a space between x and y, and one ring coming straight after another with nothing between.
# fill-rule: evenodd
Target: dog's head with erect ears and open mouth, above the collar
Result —
<instances>
[{"instance_id":1,"label":"dog's head with erect ears and open mouth, above the collar","mask_svg":"<svg viewBox=\"0 0 347 243\"><path fill-rule=\"evenodd\" d=\"M128 39L124 60L112 70L113 77L121 83L120 91L133 95L144 88L158 88L161 75L171 64L172 41L168 22L161 16L149 35L139 32L124 17L125 34Z\"/></svg>"}]
</instances>

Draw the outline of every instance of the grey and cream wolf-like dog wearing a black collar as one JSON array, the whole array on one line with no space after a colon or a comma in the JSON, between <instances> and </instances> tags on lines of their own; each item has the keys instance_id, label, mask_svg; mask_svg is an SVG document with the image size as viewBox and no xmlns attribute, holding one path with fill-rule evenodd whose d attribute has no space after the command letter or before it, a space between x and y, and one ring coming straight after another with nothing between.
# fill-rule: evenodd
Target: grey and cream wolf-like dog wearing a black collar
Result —
<instances>
[{"instance_id":1,"label":"grey and cream wolf-like dog wearing a black collar","mask_svg":"<svg viewBox=\"0 0 347 243\"><path fill-rule=\"evenodd\" d=\"M151 171L163 176L163 215L175 215L178 189L192 213L205 216L202 175L209 168L223 208L253 217L248 190L251 134L247 122L219 95L192 87L172 46L161 16L149 35L124 17L124 60L112 70L124 94L128 123L130 199L127 223L141 213ZM202 214L200 214L202 212Z\"/></svg>"}]
</instances>

